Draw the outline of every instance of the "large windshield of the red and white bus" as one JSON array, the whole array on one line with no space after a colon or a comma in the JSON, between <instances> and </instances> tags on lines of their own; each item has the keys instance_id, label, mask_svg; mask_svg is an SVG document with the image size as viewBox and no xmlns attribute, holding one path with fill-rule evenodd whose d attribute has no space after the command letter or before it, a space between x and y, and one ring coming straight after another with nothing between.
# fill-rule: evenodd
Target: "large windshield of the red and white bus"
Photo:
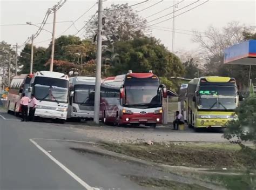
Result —
<instances>
[{"instance_id":1,"label":"large windshield of the red and white bus","mask_svg":"<svg viewBox=\"0 0 256 190\"><path fill-rule=\"evenodd\" d=\"M126 106L161 106L161 96L158 83L137 82L125 86Z\"/></svg>"}]
</instances>

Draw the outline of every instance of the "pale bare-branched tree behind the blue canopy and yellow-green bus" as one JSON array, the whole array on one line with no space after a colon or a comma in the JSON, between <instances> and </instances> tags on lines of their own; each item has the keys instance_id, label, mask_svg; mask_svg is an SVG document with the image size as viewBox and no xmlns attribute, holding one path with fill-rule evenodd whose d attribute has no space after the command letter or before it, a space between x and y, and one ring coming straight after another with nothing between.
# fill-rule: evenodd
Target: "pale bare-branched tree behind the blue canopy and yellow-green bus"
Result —
<instances>
[{"instance_id":1,"label":"pale bare-branched tree behind the blue canopy and yellow-green bus","mask_svg":"<svg viewBox=\"0 0 256 190\"><path fill-rule=\"evenodd\" d=\"M193 41L199 43L208 59L205 75L234 77L241 89L245 89L248 85L248 77L245 76L248 76L249 66L223 64L224 49L242 42L245 39L245 31L249 32L250 28L238 22L231 22L221 30L210 26L203 33L195 32Z\"/></svg>"}]
</instances>

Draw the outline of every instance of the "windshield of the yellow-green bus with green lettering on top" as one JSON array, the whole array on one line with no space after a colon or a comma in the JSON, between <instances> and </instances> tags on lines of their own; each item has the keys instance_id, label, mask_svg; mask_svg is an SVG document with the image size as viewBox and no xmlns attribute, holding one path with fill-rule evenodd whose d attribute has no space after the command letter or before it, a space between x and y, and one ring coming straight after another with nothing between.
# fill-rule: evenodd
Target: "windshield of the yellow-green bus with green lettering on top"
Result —
<instances>
[{"instance_id":1,"label":"windshield of the yellow-green bus with green lettering on top","mask_svg":"<svg viewBox=\"0 0 256 190\"><path fill-rule=\"evenodd\" d=\"M200 110L235 110L237 88L234 86L201 86L198 108Z\"/></svg>"}]
</instances>

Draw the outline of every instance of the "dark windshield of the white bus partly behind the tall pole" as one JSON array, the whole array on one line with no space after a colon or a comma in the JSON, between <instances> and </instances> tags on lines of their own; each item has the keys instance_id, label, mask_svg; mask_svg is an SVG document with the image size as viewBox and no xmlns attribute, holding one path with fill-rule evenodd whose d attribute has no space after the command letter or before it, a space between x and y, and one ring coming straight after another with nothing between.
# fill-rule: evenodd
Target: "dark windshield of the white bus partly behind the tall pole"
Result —
<instances>
[{"instance_id":1,"label":"dark windshield of the white bus partly behind the tall pole","mask_svg":"<svg viewBox=\"0 0 256 190\"><path fill-rule=\"evenodd\" d=\"M87 106L94 105L95 85L75 85L73 103Z\"/></svg>"}]
</instances>

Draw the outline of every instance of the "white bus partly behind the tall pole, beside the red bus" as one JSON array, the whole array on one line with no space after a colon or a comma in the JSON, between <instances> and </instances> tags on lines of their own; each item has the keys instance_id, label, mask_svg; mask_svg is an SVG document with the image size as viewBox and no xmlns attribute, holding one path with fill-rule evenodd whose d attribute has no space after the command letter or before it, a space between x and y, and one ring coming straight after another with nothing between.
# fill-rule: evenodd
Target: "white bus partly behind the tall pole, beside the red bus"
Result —
<instances>
[{"instance_id":1,"label":"white bus partly behind the tall pole, beside the red bus","mask_svg":"<svg viewBox=\"0 0 256 190\"><path fill-rule=\"evenodd\" d=\"M95 81L95 77L69 78L69 119L80 121L93 118Z\"/></svg>"}]
</instances>

